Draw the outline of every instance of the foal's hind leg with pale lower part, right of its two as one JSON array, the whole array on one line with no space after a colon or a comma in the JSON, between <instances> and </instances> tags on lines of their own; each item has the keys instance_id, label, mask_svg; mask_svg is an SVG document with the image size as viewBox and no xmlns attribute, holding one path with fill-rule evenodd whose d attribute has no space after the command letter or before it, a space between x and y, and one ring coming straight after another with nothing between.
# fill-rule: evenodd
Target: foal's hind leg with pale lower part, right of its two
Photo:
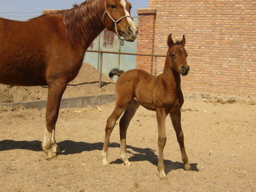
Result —
<instances>
[{"instance_id":1,"label":"foal's hind leg with pale lower part, right of its two","mask_svg":"<svg viewBox=\"0 0 256 192\"><path fill-rule=\"evenodd\" d=\"M130 166L130 162L127 158L127 151L126 151L126 132L127 128L130 124L130 120L132 120L133 115L139 108L140 104L136 100L133 100L132 104L127 108L124 112L123 117L119 123L119 130L120 130L120 148L121 148L121 159L123 160L126 166Z\"/></svg>"}]
</instances>

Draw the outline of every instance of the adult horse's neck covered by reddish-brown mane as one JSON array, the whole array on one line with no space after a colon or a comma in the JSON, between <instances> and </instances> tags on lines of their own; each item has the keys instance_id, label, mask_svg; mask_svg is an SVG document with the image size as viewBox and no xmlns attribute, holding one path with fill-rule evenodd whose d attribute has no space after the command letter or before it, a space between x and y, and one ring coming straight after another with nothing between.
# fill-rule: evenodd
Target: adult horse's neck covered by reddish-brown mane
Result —
<instances>
[{"instance_id":1,"label":"adult horse's neck covered by reddish-brown mane","mask_svg":"<svg viewBox=\"0 0 256 192\"><path fill-rule=\"evenodd\" d=\"M63 20L70 42L78 43L86 50L105 28L103 13L101 0L88 0L66 10Z\"/></svg>"}]
</instances>

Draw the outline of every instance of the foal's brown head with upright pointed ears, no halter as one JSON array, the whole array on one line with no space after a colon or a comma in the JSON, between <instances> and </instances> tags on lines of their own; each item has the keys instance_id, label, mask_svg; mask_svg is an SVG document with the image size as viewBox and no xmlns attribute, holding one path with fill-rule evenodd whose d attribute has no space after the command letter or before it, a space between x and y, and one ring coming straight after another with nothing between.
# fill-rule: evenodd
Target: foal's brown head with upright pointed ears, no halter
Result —
<instances>
[{"instance_id":1,"label":"foal's brown head with upright pointed ears, no halter","mask_svg":"<svg viewBox=\"0 0 256 192\"><path fill-rule=\"evenodd\" d=\"M166 61L168 62L169 67L172 68L172 70L181 73L183 76L187 75L190 71L190 66L186 63L188 54L185 50L185 43L185 35L183 35L181 41L173 43L172 34L170 34L167 41L169 48L166 55Z\"/></svg>"}]
</instances>

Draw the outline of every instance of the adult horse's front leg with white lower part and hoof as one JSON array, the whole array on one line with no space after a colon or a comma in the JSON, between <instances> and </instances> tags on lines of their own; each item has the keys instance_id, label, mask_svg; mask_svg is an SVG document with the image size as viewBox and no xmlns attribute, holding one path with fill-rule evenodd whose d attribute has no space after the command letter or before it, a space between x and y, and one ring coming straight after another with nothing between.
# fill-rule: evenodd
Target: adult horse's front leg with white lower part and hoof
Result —
<instances>
[{"instance_id":1,"label":"adult horse's front leg with white lower part and hoof","mask_svg":"<svg viewBox=\"0 0 256 192\"><path fill-rule=\"evenodd\" d=\"M59 115L61 97L66 89L66 85L65 81L57 81L49 84L48 86L46 130L44 131L44 138L42 142L42 148L47 160L61 153L61 149L57 146L55 140L55 125Z\"/></svg>"}]
</instances>

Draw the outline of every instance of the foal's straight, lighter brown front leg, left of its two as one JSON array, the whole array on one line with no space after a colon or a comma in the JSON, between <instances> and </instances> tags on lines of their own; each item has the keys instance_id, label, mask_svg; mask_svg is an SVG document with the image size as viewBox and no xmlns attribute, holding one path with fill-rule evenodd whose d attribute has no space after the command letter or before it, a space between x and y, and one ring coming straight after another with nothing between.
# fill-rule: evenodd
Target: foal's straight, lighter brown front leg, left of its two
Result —
<instances>
[{"instance_id":1,"label":"foal's straight, lighter brown front leg, left of its two","mask_svg":"<svg viewBox=\"0 0 256 192\"><path fill-rule=\"evenodd\" d=\"M160 178L166 178L164 173L164 146L166 144L166 131L165 131L165 119L166 111L164 109L157 109L157 126L158 126L158 148L159 159L157 170L159 171Z\"/></svg>"}]
</instances>

